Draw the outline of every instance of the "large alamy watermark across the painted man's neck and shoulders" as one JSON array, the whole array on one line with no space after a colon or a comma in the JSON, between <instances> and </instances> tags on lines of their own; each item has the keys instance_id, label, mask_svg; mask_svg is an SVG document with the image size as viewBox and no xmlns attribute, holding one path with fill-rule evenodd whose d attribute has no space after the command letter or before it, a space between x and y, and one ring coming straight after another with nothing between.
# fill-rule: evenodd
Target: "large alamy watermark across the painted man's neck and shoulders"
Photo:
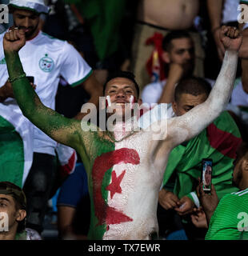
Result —
<instances>
[{"instance_id":1,"label":"large alamy watermark across the painted man's neck and shoulders","mask_svg":"<svg viewBox=\"0 0 248 256\"><path fill-rule=\"evenodd\" d=\"M130 103L111 103L106 97L99 98L99 110L93 103L82 106L81 112L86 114L82 118L83 131L138 132L152 133L153 140L162 140L167 134L167 104L139 105ZM117 125L120 123L121 125ZM98 126L96 126L98 124ZM123 126L122 126L123 124Z\"/></svg>"}]
</instances>

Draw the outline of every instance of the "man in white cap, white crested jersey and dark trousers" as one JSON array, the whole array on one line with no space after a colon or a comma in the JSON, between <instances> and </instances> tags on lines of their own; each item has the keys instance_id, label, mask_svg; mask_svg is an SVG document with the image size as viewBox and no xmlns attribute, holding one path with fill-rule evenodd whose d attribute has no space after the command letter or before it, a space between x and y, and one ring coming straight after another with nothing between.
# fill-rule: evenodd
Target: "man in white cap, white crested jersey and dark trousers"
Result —
<instances>
[{"instance_id":1,"label":"man in white cap, white crested jersey and dark trousers","mask_svg":"<svg viewBox=\"0 0 248 256\"><path fill-rule=\"evenodd\" d=\"M83 88L90 94L90 102L98 104L98 96L102 94L102 88L98 85L94 75L92 75L90 66L68 42L52 38L39 30L39 15L42 13L47 14L49 11L44 1L10 0L9 8L13 13L14 26L26 31L28 41L20 51L20 58L26 74L34 77L36 92L42 99L43 104L54 109L55 95L61 76L71 86L82 84ZM26 177L27 173L23 174L22 183L25 182L23 190L25 190L28 205L27 224L41 233L46 202L50 197L52 182L55 178L56 157L54 148L57 146L57 142L54 142L37 127L31 125L22 116L22 112L19 110L14 98L10 98L12 94L11 86L7 82L6 63L2 59L3 35L0 34L0 62L2 62L2 65L0 65L0 86L2 86L0 88L2 102L0 103L0 115L4 116L4 113L9 110L4 118L10 122L11 111L18 113L20 122L26 123L29 127L23 131L23 134L30 134L34 130L34 140L29 144L30 147L33 147L31 152L34 151L33 164L29 175ZM29 162L32 162L32 159L29 160ZM6 159L2 159L2 161L6 161ZM9 161L13 163L15 159L12 158ZM10 172L12 170L14 170L14 167L11 168Z\"/></svg>"}]
</instances>

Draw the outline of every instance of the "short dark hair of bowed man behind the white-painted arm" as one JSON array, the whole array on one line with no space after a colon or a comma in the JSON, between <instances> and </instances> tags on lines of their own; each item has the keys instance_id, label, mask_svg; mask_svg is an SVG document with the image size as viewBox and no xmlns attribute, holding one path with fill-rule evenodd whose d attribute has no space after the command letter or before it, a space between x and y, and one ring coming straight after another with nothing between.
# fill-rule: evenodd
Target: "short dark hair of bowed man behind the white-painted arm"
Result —
<instances>
[{"instance_id":1,"label":"short dark hair of bowed man behind the white-painted arm","mask_svg":"<svg viewBox=\"0 0 248 256\"><path fill-rule=\"evenodd\" d=\"M182 94L191 94L194 96L206 94L208 96L211 89L210 83L203 78L185 78L178 82L174 90L174 100L178 102Z\"/></svg>"}]
</instances>

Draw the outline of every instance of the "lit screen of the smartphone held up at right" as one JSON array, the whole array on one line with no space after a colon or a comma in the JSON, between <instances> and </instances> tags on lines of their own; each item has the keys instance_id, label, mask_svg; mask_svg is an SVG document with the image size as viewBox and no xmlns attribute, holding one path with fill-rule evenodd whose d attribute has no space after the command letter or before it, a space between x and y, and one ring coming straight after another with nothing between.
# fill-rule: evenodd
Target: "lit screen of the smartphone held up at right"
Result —
<instances>
[{"instance_id":1,"label":"lit screen of the smartphone held up at right","mask_svg":"<svg viewBox=\"0 0 248 256\"><path fill-rule=\"evenodd\" d=\"M203 191L211 191L212 182L212 172L213 172L213 161L210 158L202 159L202 189Z\"/></svg>"}]
</instances>

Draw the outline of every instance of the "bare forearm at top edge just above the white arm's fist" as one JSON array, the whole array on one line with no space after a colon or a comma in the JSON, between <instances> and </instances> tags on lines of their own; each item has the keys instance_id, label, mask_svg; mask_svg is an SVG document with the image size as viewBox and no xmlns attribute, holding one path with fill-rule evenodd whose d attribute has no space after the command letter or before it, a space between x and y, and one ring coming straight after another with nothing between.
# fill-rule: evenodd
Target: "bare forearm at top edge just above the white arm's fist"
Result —
<instances>
[{"instance_id":1,"label":"bare forearm at top edge just above the white arm's fist","mask_svg":"<svg viewBox=\"0 0 248 256\"><path fill-rule=\"evenodd\" d=\"M221 26L222 0L207 0L207 10L210 16L211 30L214 31Z\"/></svg>"}]
</instances>

